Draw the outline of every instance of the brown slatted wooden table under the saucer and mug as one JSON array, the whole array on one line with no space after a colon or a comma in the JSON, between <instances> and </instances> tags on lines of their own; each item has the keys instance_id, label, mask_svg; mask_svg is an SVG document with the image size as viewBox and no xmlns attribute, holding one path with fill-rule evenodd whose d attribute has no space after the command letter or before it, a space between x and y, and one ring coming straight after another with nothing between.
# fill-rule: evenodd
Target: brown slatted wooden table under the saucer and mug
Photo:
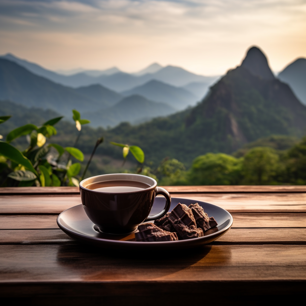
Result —
<instances>
[{"instance_id":1,"label":"brown slatted wooden table under the saucer and mug","mask_svg":"<svg viewBox=\"0 0 306 306\"><path fill-rule=\"evenodd\" d=\"M258 305L304 298L305 186L165 188L225 208L233 227L196 250L108 252L74 241L56 224L60 212L81 203L78 188L0 188L1 301Z\"/></svg>"}]
</instances>

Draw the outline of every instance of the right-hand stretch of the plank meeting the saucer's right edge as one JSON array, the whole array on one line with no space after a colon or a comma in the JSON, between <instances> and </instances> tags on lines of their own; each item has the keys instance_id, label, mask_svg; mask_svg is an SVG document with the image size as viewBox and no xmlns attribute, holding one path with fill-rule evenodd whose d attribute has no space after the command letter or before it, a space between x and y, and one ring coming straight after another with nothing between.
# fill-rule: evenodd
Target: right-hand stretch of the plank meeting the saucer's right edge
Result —
<instances>
[{"instance_id":1,"label":"right-hand stretch of the plank meeting the saucer's right edge","mask_svg":"<svg viewBox=\"0 0 306 306\"><path fill-rule=\"evenodd\" d=\"M232 228L306 228L306 213L232 213L232 216Z\"/></svg>"}]
</instances>

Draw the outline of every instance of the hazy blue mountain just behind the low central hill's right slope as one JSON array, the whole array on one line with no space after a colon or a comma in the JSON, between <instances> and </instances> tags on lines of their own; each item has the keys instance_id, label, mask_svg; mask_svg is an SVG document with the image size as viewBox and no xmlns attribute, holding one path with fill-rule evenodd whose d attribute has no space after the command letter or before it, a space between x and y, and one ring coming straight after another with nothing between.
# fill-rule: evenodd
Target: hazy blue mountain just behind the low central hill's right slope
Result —
<instances>
[{"instance_id":1,"label":"hazy blue mountain just behind the low central hill's right slope","mask_svg":"<svg viewBox=\"0 0 306 306\"><path fill-rule=\"evenodd\" d=\"M196 103L196 96L184 88L168 85L166 83L151 80L142 86L123 91L123 95L142 95L145 98L164 102L172 106L176 110L183 110L188 105Z\"/></svg>"}]
</instances>

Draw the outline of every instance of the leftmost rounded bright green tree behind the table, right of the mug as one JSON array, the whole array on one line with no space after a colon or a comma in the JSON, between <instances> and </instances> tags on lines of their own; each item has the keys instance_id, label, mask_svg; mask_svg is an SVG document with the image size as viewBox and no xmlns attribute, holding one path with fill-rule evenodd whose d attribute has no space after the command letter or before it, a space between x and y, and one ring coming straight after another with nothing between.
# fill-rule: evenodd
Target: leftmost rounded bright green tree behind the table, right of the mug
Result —
<instances>
[{"instance_id":1,"label":"leftmost rounded bright green tree behind the table, right of the mug","mask_svg":"<svg viewBox=\"0 0 306 306\"><path fill-rule=\"evenodd\" d=\"M188 171L188 185L237 185L242 160L223 153L198 156Z\"/></svg>"}]
</instances>

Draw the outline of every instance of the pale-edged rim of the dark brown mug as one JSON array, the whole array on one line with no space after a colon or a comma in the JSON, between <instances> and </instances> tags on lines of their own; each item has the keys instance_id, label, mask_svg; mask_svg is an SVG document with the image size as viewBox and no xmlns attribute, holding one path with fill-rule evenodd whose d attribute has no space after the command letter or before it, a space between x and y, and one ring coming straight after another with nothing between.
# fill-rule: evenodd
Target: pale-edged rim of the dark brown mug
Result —
<instances>
[{"instance_id":1,"label":"pale-edged rim of the dark brown mug","mask_svg":"<svg viewBox=\"0 0 306 306\"><path fill-rule=\"evenodd\" d=\"M143 177L145 178L146 180L151 180L153 181L153 185L148 187L148 188L145 188L143 190L137 190L137 191L129 191L129 192L120 192L120 194L126 194L126 193L139 193L139 192L148 192L150 190L153 190L157 187L157 181L155 181L154 178L152 177L149 177L149 176L146 176L146 175L141 175L141 174L130 174L130 173L113 173L113 174L101 174L101 175L96 175L96 176L92 176L92 177L88 177L88 178L85 178L83 181L80 181L80 189L84 189L86 191L89 191L89 192L95 192L95 193L103 193L103 194L118 194L118 192L102 192L102 191L95 191L95 190L92 190L92 189L89 189L89 188L86 188L84 187L84 183L86 181L88 181L89 179L91 180L94 180L92 183L98 183L100 181L98 181L98 178L99 177L114 177L114 176L123 176L123 177ZM97 180L97 181L95 181ZM116 179L113 179L113 181L115 181ZM118 179L117 179L118 180ZM124 179L121 179L121 180L124 180ZM127 180L127 181L131 181L131 180ZM144 182L144 181L140 181L140 182Z\"/></svg>"}]
</instances>

